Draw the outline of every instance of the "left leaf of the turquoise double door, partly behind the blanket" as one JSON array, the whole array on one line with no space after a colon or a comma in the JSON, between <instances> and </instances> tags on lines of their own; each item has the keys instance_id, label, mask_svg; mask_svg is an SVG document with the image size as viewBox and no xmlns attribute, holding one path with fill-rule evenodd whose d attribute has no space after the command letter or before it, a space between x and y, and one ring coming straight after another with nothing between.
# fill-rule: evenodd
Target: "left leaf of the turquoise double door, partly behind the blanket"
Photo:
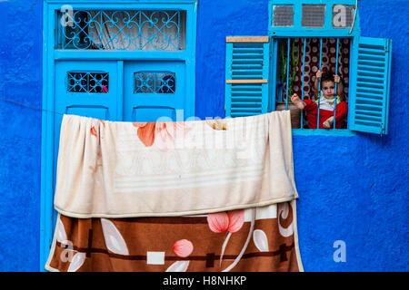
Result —
<instances>
[{"instance_id":1,"label":"left leaf of the turquoise double door, partly behind the blanket","mask_svg":"<svg viewBox=\"0 0 409 290\"><path fill-rule=\"evenodd\" d=\"M55 152L54 172L63 114L75 114L101 120L121 120L116 61L55 62ZM55 174L53 185L55 187ZM55 192L55 190L53 190ZM56 211L54 210L54 223ZM54 230L55 227L53 227Z\"/></svg>"}]
</instances>

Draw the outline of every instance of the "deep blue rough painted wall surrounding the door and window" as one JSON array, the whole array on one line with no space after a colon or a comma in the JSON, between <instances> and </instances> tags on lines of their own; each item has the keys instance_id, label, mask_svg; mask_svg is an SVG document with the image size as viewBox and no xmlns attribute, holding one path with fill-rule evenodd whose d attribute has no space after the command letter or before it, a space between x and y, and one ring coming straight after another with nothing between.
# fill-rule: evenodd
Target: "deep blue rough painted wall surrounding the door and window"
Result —
<instances>
[{"instance_id":1,"label":"deep blue rough painted wall surrounding the door and window","mask_svg":"<svg viewBox=\"0 0 409 290\"><path fill-rule=\"evenodd\" d=\"M267 34L267 0L202 0L196 115L224 116L225 35ZM359 1L364 36L393 40L389 135L294 136L305 271L408 271L407 0ZM0 97L42 106L43 3L0 1ZM38 271L41 112L0 100L0 271ZM346 261L334 262L334 242Z\"/></svg>"}]
</instances>

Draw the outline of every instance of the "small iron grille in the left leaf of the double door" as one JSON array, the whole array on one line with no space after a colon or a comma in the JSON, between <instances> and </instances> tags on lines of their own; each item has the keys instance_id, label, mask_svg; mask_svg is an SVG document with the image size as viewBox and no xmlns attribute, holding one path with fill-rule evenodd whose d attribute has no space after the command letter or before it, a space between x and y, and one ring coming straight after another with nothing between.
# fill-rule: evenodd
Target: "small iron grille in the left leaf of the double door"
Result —
<instances>
[{"instance_id":1,"label":"small iron grille in the left leaf of the double door","mask_svg":"<svg viewBox=\"0 0 409 290\"><path fill-rule=\"evenodd\" d=\"M67 73L67 92L108 92L109 73Z\"/></svg>"}]
</instances>

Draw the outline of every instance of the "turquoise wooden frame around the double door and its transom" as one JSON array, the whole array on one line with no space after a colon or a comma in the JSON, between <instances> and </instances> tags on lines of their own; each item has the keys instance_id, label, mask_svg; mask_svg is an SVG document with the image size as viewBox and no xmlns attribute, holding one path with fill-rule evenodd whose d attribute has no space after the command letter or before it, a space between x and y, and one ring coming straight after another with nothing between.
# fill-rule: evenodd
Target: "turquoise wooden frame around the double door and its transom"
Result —
<instances>
[{"instance_id":1,"label":"turquoise wooden frame around the double door and its transom","mask_svg":"<svg viewBox=\"0 0 409 290\"><path fill-rule=\"evenodd\" d=\"M55 223L53 205L55 187L55 62L56 61L115 61L117 71L117 94L124 96L123 72L125 61L162 60L185 62L185 80L187 96L185 100L185 118L195 115L195 43L197 0L73 0L74 9L179 9L186 11L186 43L182 52L78 52L55 50L55 11L60 11L66 2L45 0L43 5L43 111L42 114L42 154L41 154L41 198L40 198L40 271L45 271L45 263L52 244ZM117 100L116 116L123 115L121 98ZM57 111L64 113L64 111ZM118 117L119 119L119 117Z\"/></svg>"}]
</instances>

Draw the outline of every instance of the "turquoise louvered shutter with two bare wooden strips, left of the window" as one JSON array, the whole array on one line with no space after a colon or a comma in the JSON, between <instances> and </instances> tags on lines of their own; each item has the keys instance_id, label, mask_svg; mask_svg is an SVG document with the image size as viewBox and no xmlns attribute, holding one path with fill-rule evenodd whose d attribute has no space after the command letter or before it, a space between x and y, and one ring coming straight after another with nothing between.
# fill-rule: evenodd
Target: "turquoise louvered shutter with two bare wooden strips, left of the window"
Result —
<instances>
[{"instance_id":1,"label":"turquoise louvered shutter with two bare wooden strips, left of the window","mask_svg":"<svg viewBox=\"0 0 409 290\"><path fill-rule=\"evenodd\" d=\"M269 46L268 36L226 37L226 117L267 112Z\"/></svg>"}]
</instances>

